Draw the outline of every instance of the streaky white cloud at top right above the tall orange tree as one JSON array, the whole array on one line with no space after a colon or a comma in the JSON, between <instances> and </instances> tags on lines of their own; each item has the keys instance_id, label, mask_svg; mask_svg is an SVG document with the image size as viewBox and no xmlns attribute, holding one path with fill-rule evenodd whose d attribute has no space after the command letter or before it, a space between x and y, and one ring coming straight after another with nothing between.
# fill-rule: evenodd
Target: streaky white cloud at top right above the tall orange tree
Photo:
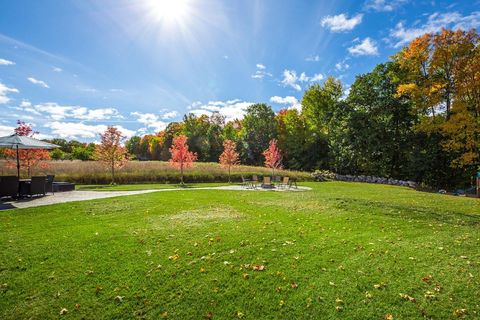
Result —
<instances>
[{"instance_id":1,"label":"streaky white cloud at top right above the tall orange tree","mask_svg":"<svg viewBox=\"0 0 480 320\"><path fill-rule=\"evenodd\" d=\"M408 28L403 22L397 23L395 28L390 30L390 37L396 39L393 46L398 48L425 33L435 33L442 28L469 30L478 27L480 27L480 11L474 11L466 16L458 12L433 13L428 17L427 22L420 26Z\"/></svg>"}]
</instances>

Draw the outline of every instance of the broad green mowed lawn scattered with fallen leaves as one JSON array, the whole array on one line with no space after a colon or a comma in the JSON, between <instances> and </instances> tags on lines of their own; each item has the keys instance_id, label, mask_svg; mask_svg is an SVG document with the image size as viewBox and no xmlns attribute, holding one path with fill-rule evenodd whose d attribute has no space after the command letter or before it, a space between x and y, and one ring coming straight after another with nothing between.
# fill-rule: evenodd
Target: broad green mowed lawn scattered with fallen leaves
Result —
<instances>
[{"instance_id":1,"label":"broad green mowed lawn scattered with fallen leaves","mask_svg":"<svg viewBox=\"0 0 480 320\"><path fill-rule=\"evenodd\" d=\"M305 185L0 212L0 318L479 317L478 199Z\"/></svg>"}]
</instances>

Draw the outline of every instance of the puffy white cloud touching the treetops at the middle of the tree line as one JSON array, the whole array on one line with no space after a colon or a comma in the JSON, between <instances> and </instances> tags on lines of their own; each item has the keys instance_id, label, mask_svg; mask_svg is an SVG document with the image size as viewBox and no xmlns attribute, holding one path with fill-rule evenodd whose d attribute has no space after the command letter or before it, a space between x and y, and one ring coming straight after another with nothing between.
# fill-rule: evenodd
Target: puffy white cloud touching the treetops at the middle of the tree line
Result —
<instances>
[{"instance_id":1,"label":"puffy white cloud touching the treetops at the middle of the tree line","mask_svg":"<svg viewBox=\"0 0 480 320\"><path fill-rule=\"evenodd\" d=\"M245 115L247 107L253 102L241 101L239 99L228 101L209 101L206 104L196 105L195 109L191 109L190 113L195 115L211 116L212 113L218 112L225 117L226 121L242 119Z\"/></svg>"}]
</instances>

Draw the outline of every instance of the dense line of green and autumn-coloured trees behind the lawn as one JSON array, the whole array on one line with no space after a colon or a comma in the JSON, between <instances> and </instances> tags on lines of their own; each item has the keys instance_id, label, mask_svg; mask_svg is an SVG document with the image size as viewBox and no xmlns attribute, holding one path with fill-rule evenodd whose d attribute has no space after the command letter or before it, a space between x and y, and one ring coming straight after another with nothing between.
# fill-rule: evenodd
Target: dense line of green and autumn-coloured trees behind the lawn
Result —
<instances>
[{"instance_id":1,"label":"dense line of green and autumn-coloured trees behind the lawn","mask_svg":"<svg viewBox=\"0 0 480 320\"><path fill-rule=\"evenodd\" d=\"M229 122L219 113L187 114L126 147L137 159L167 161L173 138L185 135L198 161L217 162L228 139L241 163L262 165L277 139L288 169L468 185L480 158L478 43L475 30L426 34L357 76L347 95L329 77L306 89L301 110L275 113L258 103Z\"/></svg>"}]
</instances>

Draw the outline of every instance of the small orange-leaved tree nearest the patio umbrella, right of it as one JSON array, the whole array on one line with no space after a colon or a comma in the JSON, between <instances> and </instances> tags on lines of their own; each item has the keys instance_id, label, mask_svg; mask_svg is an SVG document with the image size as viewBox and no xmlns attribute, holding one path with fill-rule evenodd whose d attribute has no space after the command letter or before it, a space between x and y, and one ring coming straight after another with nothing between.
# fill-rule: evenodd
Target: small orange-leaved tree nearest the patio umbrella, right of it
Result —
<instances>
[{"instance_id":1,"label":"small orange-leaved tree nearest the patio umbrella, right of it","mask_svg":"<svg viewBox=\"0 0 480 320\"><path fill-rule=\"evenodd\" d=\"M94 159L103 162L110 169L113 184L115 183L115 169L122 168L128 162L127 149L122 146L125 136L117 128L108 126L100 137L100 144L95 146Z\"/></svg>"}]
</instances>

